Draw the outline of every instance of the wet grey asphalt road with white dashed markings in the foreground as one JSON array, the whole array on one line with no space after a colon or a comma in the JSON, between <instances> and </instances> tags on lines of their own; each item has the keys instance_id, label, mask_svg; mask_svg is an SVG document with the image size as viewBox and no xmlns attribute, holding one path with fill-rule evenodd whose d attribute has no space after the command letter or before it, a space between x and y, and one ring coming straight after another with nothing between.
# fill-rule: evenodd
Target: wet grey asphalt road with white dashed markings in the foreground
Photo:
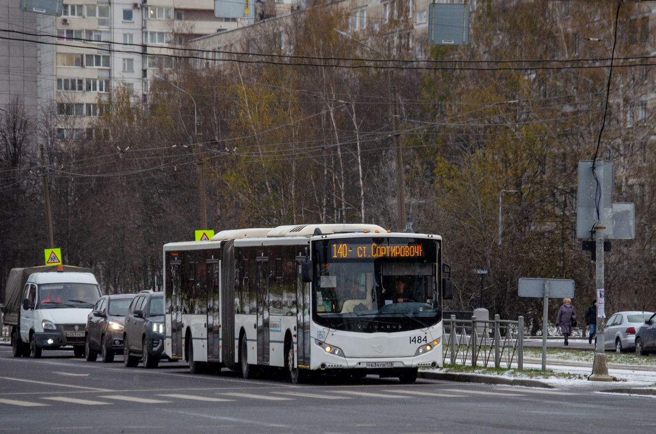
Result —
<instances>
[{"instance_id":1,"label":"wet grey asphalt road with white dashed markings in the foreground","mask_svg":"<svg viewBox=\"0 0 656 434\"><path fill-rule=\"evenodd\" d=\"M14 359L0 347L0 433L656 432L651 397L375 376L297 386L44 355Z\"/></svg>"}]
</instances>

